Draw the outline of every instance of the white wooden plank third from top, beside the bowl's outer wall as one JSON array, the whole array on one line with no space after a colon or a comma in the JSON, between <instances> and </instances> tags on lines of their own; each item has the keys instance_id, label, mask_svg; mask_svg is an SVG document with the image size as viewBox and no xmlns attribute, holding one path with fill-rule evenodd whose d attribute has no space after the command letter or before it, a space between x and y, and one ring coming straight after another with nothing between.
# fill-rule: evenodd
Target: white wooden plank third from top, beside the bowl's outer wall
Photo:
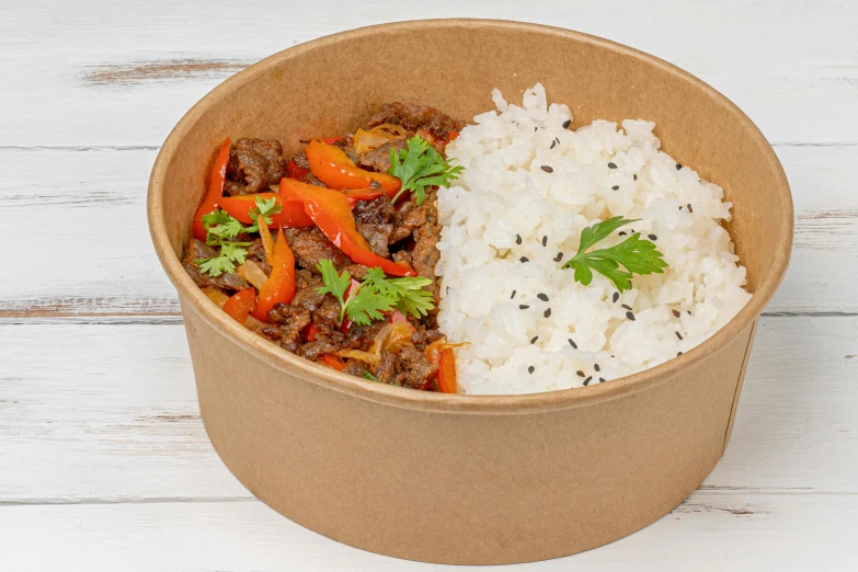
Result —
<instances>
[{"instance_id":1,"label":"white wooden plank third from top, beside the bowl's outer wall","mask_svg":"<svg viewBox=\"0 0 858 572\"><path fill-rule=\"evenodd\" d=\"M249 499L206 438L181 324L116 320L0 324L0 503ZM858 493L856 354L856 317L764 318L705 488Z\"/></svg>"}]
</instances>

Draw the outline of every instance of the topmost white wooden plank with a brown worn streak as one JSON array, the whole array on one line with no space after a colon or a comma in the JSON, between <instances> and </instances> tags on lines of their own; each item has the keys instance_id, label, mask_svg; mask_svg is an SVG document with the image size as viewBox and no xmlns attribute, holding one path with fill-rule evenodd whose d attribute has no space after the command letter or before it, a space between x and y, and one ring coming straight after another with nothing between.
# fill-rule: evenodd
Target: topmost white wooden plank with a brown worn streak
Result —
<instances>
[{"instance_id":1,"label":"topmost white wooden plank with a brown worn streak","mask_svg":"<svg viewBox=\"0 0 858 572\"><path fill-rule=\"evenodd\" d=\"M334 0L300 7L268 0L254 4L253 16L225 21L226 2L18 2L0 22L2 100L13 112L0 119L0 145L157 146L194 102L248 62L351 27L438 15L535 21L608 37L699 76L773 141L858 142L850 4L657 4L536 1L488 9L473 0L370 0L343 10Z\"/></svg>"}]
</instances>

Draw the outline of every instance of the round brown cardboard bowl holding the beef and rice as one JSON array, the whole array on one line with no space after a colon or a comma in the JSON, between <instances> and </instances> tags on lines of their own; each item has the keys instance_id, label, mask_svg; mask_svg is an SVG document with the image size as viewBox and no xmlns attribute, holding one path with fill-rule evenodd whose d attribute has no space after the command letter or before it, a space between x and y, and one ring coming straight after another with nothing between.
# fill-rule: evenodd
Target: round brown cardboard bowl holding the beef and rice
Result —
<instances>
[{"instance_id":1,"label":"round brown cardboard bowl holding the beef and rice","mask_svg":"<svg viewBox=\"0 0 858 572\"><path fill-rule=\"evenodd\" d=\"M753 297L710 340L659 367L531 396L426 393L289 354L227 317L180 255L224 136L299 139L354 129L392 100L461 118L542 82L595 118L656 123L663 147L725 188ZM531 24L437 20L355 30L238 73L164 142L149 184L158 256L179 290L199 409L224 462L296 523L413 560L497 564L621 538L680 503L724 451L757 319L787 268L787 179L754 124L657 58ZM574 375L570 373L570 375Z\"/></svg>"}]
</instances>

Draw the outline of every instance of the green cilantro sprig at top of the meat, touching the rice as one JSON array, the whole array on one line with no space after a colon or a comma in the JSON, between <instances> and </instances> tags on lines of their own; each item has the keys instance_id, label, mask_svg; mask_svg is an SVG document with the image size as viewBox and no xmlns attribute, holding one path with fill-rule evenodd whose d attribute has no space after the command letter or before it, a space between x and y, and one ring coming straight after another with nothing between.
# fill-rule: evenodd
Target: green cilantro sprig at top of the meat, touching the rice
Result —
<instances>
[{"instance_id":1,"label":"green cilantro sprig at top of the meat, touching the rice","mask_svg":"<svg viewBox=\"0 0 858 572\"><path fill-rule=\"evenodd\" d=\"M428 141L415 135L408 140L405 149L390 150L388 173L402 181L402 188L396 194L393 202L396 203L402 193L411 191L420 205L426 199L427 186L449 188L450 182L458 179L462 171L461 165L450 165Z\"/></svg>"}]
</instances>

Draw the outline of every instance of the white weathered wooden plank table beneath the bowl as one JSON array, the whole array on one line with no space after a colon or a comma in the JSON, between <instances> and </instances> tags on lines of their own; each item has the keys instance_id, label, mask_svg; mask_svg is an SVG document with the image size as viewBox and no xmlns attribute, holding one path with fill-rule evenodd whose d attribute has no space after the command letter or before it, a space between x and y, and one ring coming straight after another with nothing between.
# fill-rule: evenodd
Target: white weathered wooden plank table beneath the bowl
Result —
<instances>
[{"instance_id":1,"label":"white weathered wooden plank table beneath the bowl","mask_svg":"<svg viewBox=\"0 0 858 572\"><path fill-rule=\"evenodd\" d=\"M687 69L759 125L796 201L792 266L718 468L647 529L519 569L855 570L858 3L811 0L3 0L0 570L442 568L305 530L229 474L145 218L158 146L229 75L320 35L439 16L571 27Z\"/></svg>"}]
</instances>

